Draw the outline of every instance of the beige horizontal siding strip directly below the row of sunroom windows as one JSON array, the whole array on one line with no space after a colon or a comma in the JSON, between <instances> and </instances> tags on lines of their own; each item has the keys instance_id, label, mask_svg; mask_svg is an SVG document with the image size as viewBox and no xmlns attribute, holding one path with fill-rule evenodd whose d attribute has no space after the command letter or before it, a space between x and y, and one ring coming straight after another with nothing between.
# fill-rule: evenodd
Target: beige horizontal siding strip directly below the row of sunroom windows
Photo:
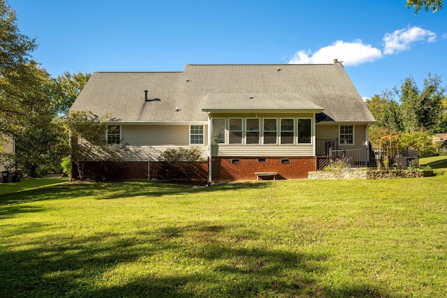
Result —
<instances>
[{"instance_id":1,"label":"beige horizontal siding strip directly below the row of sunroom windows","mask_svg":"<svg viewBox=\"0 0 447 298\"><path fill-rule=\"evenodd\" d=\"M212 156L314 156L312 144L300 145L212 145Z\"/></svg>"}]
</instances>

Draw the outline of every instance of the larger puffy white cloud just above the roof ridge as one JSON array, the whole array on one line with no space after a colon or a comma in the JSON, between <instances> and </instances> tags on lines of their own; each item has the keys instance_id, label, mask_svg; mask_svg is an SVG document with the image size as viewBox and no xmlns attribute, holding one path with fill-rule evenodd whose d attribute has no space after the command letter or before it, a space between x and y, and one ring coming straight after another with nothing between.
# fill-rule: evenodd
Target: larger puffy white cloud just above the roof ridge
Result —
<instances>
[{"instance_id":1,"label":"larger puffy white cloud just above the roof ridge","mask_svg":"<svg viewBox=\"0 0 447 298\"><path fill-rule=\"evenodd\" d=\"M379 49L371 45L364 45L362 40L352 43L345 43L337 40L332 45L322 47L314 52L298 51L295 53L289 64L330 64L333 59L343 61L346 66L356 66L365 62L372 62L381 59L382 53Z\"/></svg>"}]
</instances>

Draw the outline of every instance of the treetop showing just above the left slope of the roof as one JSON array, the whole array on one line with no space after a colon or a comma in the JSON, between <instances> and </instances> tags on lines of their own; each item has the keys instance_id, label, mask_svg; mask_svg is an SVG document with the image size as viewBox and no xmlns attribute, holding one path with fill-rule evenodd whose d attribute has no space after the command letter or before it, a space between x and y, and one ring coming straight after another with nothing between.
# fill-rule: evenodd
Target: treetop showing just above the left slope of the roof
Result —
<instances>
[{"instance_id":1,"label":"treetop showing just above the left slope of the roof","mask_svg":"<svg viewBox=\"0 0 447 298\"><path fill-rule=\"evenodd\" d=\"M59 114L66 114L75 99L84 88L85 84L91 77L90 73L68 73L66 71L62 75L58 75L56 82L59 86L59 95L57 96L57 107Z\"/></svg>"}]
</instances>

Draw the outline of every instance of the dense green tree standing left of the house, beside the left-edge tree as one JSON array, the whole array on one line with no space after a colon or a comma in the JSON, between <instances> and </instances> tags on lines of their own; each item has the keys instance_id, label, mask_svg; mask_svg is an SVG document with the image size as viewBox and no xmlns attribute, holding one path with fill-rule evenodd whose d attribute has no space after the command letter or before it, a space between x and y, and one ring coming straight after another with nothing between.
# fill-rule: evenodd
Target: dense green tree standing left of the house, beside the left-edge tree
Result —
<instances>
[{"instance_id":1,"label":"dense green tree standing left of the house, beside the left-edge tree","mask_svg":"<svg viewBox=\"0 0 447 298\"><path fill-rule=\"evenodd\" d=\"M16 144L16 163L25 172L35 177L38 169L59 171L59 163L66 155L60 146L63 130L57 121L57 94L55 81L36 64L28 67L27 85L20 87L20 101L27 102L27 110L17 107L24 116L11 117L11 128Z\"/></svg>"}]
</instances>

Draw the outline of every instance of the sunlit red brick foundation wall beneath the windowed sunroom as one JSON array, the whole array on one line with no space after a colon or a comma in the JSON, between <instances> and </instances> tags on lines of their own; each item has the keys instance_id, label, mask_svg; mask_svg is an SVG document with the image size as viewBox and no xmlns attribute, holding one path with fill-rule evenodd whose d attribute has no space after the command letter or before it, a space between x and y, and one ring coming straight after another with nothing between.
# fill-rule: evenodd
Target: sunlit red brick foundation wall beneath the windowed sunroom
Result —
<instances>
[{"instance_id":1,"label":"sunlit red brick foundation wall beneath the windowed sunroom","mask_svg":"<svg viewBox=\"0 0 447 298\"><path fill-rule=\"evenodd\" d=\"M233 164L239 159L239 164ZM281 164L281 159L290 163ZM213 157L213 180L256 180L254 172L278 172L277 179L307 178L307 173L316 170L315 157L265 157L265 162L258 162L252 157Z\"/></svg>"}]
</instances>

